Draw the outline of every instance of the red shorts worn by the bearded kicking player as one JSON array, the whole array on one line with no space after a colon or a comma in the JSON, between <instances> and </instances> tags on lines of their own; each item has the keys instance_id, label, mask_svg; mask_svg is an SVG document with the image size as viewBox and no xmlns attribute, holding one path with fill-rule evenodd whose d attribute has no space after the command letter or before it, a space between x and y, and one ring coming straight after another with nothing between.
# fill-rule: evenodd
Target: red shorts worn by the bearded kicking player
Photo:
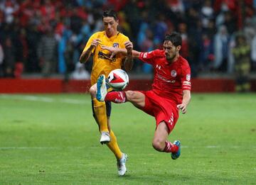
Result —
<instances>
[{"instance_id":1,"label":"red shorts worn by the bearded kicking player","mask_svg":"<svg viewBox=\"0 0 256 185\"><path fill-rule=\"evenodd\" d=\"M156 127L164 121L169 133L174 129L178 120L178 108L176 103L154 93L154 91L139 91L145 95L145 106L140 108L145 113L154 116Z\"/></svg>"}]
</instances>

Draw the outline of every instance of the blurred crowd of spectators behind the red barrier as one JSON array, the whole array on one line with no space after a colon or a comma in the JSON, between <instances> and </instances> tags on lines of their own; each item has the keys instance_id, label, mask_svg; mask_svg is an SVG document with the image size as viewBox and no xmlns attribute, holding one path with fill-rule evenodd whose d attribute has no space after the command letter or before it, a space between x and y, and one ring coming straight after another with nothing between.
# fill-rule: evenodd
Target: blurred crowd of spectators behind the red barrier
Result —
<instances>
[{"instance_id":1,"label":"blurred crowd of spectators behind the red barrier","mask_svg":"<svg viewBox=\"0 0 256 185\"><path fill-rule=\"evenodd\" d=\"M90 78L92 62L80 65L79 57L90 35L103 30L106 9L118 12L118 29L135 50L161 48L176 30L193 77L246 76L256 68L255 8L255 0L0 0L0 77ZM134 73L151 70L134 63Z\"/></svg>"}]
</instances>

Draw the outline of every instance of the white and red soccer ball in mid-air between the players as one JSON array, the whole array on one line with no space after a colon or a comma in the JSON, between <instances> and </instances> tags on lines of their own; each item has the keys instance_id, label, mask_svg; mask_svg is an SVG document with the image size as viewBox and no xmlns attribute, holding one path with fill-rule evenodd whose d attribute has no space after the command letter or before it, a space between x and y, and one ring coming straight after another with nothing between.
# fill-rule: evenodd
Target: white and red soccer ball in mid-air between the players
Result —
<instances>
[{"instance_id":1,"label":"white and red soccer ball in mid-air between the players","mask_svg":"<svg viewBox=\"0 0 256 185\"><path fill-rule=\"evenodd\" d=\"M127 72L122 69L114 69L107 76L107 84L116 91L122 91L129 84Z\"/></svg>"}]
</instances>

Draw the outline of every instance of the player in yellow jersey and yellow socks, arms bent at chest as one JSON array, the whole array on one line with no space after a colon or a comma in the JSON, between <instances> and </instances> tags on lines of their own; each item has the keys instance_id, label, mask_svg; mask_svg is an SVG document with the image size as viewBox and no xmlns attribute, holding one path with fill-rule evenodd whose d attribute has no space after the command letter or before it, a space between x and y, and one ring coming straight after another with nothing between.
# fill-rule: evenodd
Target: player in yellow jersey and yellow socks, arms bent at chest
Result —
<instances>
[{"instance_id":1,"label":"player in yellow jersey and yellow socks, arms bent at chest","mask_svg":"<svg viewBox=\"0 0 256 185\"><path fill-rule=\"evenodd\" d=\"M121 69L128 71L132 69L132 47L127 47L129 38L119 33L117 30L118 19L117 14L112 11L105 11L102 16L102 21L105 30L94 33L82 51L80 56L80 62L84 63L93 55L93 65L91 73L91 87L90 95L92 99L92 112L93 116L99 125L102 144L107 144L110 150L117 158L117 169L120 176L124 175L127 171L125 162L127 161L127 155L121 152L117 145L117 138L114 135L113 130L110 128L110 113L111 103L100 102L96 99L97 92L97 78L101 74L107 75L113 69ZM119 51L123 52L111 52L109 47L115 47ZM126 53L127 55L122 55Z\"/></svg>"}]
</instances>

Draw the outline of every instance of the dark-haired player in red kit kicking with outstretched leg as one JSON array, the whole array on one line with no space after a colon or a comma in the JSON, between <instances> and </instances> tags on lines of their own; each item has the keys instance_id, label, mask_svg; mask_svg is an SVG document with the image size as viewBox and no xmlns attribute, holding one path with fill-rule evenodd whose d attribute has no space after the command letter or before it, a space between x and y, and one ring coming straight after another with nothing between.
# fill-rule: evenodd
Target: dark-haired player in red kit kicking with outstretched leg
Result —
<instances>
[{"instance_id":1,"label":"dark-haired player in red kit kicking with outstretched leg","mask_svg":"<svg viewBox=\"0 0 256 185\"><path fill-rule=\"evenodd\" d=\"M127 52L132 50L131 42L126 43ZM159 152L171 153L172 159L181 155L181 142L167 140L178 120L178 110L186 113L191 100L191 69L188 61L179 55L181 35L171 33L164 38L164 49L151 52L132 50L132 56L154 67L154 82L149 91L113 91L107 93L105 76L97 80L99 101L114 103L131 102L156 119L156 130L152 145Z\"/></svg>"}]
</instances>

